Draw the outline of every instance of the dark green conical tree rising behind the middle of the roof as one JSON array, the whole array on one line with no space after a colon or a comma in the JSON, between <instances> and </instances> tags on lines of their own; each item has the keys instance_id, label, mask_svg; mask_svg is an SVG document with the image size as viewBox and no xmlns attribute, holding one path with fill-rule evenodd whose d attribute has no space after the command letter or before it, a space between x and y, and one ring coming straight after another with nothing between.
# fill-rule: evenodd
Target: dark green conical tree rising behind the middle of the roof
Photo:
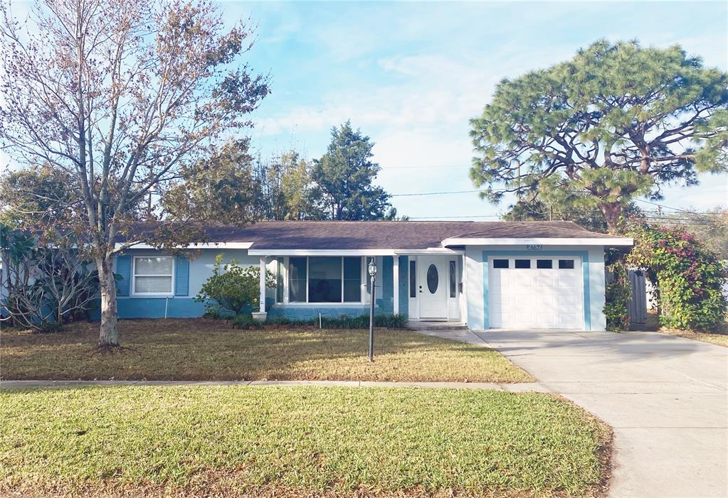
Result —
<instances>
[{"instance_id":1,"label":"dark green conical tree rising behind the middle of the roof","mask_svg":"<svg viewBox=\"0 0 728 498\"><path fill-rule=\"evenodd\" d=\"M380 166L371 161L374 144L351 121L331 129L326 153L314 160L312 180L325 219L382 220L393 218L389 194L372 185Z\"/></svg>"}]
</instances>

